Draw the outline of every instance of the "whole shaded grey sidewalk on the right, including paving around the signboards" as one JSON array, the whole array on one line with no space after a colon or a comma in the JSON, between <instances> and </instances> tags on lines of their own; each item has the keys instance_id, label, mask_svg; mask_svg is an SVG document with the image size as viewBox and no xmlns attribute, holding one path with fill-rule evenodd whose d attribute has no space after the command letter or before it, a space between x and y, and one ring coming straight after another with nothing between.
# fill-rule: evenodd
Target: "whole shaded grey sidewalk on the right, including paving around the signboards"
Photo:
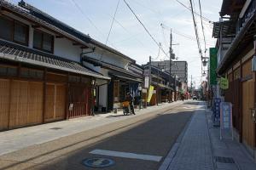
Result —
<instances>
[{"instance_id":1,"label":"whole shaded grey sidewalk on the right, including paving around the signboards","mask_svg":"<svg viewBox=\"0 0 256 170\"><path fill-rule=\"evenodd\" d=\"M172 146L159 170L256 169L255 162L241 144L231 139L219 139L219 127L212 126L211 114L203 102L198 105L198 111Z\"/></svg>"}]
</instances>

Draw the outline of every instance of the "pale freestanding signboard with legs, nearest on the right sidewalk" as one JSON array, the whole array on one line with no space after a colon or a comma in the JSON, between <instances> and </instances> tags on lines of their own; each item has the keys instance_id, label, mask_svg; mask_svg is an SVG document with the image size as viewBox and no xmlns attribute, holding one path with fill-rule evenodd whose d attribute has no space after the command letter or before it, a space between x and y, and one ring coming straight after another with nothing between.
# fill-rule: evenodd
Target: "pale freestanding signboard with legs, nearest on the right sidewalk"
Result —
<instances>
[{"instance_id":1,"label":"pale freestanding signboard with legs, nearest on the right sidewalk","mask_svg":"<svg viewBox=\"0 0 256 170\"><path fill-rule=\"evenodd\" d=\"M224 130L231 132L233 139L232 104L230 102L220 103L220 139L223 138Z\"/></svg>"}]
</instances>

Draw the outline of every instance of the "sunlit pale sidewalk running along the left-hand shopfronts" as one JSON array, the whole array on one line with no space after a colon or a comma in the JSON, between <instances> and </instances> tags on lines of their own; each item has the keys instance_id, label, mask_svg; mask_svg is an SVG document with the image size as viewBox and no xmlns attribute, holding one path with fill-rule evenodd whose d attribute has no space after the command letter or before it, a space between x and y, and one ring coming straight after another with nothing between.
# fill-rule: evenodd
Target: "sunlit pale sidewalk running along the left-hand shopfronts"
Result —
<instances>
[{"instance_id":1,"label":"sunlit pale sidewalk running along the left-hand shopfronts","mask_svg":"<svg viewBox=\"0 0 256 170\"><path fill-rule=\"evenodd\" d=\"M61 137L108 125L113 122L131 119L154 111L166 111L182 103L182 101L177 101L171 104L166 103L159 106L151 106L147 109L136 111L135 116L123 116L123 112L119 111L116 114L107 113L96 116L84 116L68 121L52 122L1 132L0 156L34 144L43 144L51 140L60 139Z\"/></svg>"}]
</instances>

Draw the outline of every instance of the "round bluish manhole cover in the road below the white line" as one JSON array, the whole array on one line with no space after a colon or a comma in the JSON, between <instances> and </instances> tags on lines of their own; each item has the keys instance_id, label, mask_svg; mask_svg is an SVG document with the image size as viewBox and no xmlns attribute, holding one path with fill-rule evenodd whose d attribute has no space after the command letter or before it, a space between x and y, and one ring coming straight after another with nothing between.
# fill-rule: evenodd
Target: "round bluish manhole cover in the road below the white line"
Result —
<instances>
[{"instance_id":1,"label":"round bluish manhole cover in the road below the white line","mask_svg":"<svg viewBox=\"0 0 256 170\"><path fill-rule=\"evenodd\" d=\"M114 164L114 161L108 158L88 158L83 161L86 167L110 167Z\"/></svg>"}]
</instances>

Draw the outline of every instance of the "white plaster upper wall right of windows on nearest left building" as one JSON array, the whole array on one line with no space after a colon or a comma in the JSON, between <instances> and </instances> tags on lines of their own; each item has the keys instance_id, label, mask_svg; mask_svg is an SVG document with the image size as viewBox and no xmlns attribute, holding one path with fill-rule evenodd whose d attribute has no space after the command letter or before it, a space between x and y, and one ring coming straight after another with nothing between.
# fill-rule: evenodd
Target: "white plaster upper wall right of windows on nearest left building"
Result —
<instances>
[{"instance_id":1,"label":"white plaster upper wall right of windows on nearest left building","mask_svg":"<svg viewBox=\"0 0 256 170\"><path fill-rule=\"evenodd\" d=\"M74 46L73 42L66 38L55 38L54 54L65 59L80 62L82 49L80 46Z\"/></svg>"}]
</instances>

